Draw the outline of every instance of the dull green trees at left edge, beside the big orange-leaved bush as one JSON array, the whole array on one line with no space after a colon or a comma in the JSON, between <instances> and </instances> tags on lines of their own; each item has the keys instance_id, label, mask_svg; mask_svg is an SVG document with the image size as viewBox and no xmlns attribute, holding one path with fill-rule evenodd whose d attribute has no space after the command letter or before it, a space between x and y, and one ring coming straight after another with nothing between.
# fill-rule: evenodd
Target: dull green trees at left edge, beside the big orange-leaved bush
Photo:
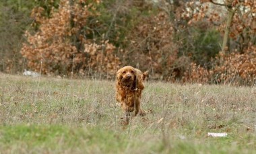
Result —
<instances>
[{"instance_id":1,"label":"dull green trees at left edge, beside the big orange-leaved bush","mask_svg":"<svg viewBox=\"0 0 256 154\"><path fill-rule=\"evenodd\" d=\"M33 30L35 18L30 17L34 7L41 9L41 14L49 16L52 7L57 7L58 1L0 1L0 71L17 73L24 68L24 58L20 54L23 35L27 29ZM35 28L36 30L36 28Z\"/></svg>"}]
</instances>

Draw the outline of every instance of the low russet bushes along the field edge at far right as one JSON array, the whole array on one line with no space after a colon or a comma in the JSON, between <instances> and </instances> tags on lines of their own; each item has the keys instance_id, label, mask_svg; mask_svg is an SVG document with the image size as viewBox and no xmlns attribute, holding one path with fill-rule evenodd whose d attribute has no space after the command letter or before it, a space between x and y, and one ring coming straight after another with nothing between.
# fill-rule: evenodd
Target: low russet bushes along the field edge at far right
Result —
<instances>
[{"instance_id":1,"label":"low russet bushes along the field edge at far right","mask_svg":"<svg viewBox=\"0 0 256 154\"><path fill-rule=\"evenodd\" d=\"M207 70L195 63L183 74L183 82L222 83L251 85L256 78L256 46L251 45L243 54L220 53L212 69Z\"/></svg>"}]
</instances>

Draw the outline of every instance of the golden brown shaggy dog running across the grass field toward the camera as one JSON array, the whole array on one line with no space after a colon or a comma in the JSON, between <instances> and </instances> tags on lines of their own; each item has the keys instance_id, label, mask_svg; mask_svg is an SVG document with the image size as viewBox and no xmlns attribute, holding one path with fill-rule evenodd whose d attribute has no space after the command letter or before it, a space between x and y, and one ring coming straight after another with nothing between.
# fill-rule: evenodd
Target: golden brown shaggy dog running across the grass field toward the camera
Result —
<instances>
[{"instance_id":1,"label":"golden brown shaggy dog running across the grass field toward the camera","mask_svg":"<svg viewBox=\"0 0 256 154\"><path fill-rule=\"evenodd\" d=\"M135 116L138 113L144 116L145 113L140 108L140 99L146 77L148 77L148 71L142 73L131 66L125 66L117 71L116 99L127 114L135 110Z\"/></svg>"}]
</instances>

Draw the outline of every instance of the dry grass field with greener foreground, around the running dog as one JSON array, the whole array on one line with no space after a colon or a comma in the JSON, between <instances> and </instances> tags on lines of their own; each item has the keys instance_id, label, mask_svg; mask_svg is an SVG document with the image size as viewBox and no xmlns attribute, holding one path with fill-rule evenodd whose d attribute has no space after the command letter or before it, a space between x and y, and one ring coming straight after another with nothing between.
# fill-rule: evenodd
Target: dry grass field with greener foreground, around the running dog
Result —
<instances>
[{"instance_id":1,"label":"dry grass field with greener foreground, around the running dog","mask_svg":"<svg viewBox=\"0 0 256 154\"><path fill-rule=\"evenodd\" d=\"M149 81L125 126L114 85L0 74L0 153L256 153L253 87Z\"/></svg>"}]
</instances>

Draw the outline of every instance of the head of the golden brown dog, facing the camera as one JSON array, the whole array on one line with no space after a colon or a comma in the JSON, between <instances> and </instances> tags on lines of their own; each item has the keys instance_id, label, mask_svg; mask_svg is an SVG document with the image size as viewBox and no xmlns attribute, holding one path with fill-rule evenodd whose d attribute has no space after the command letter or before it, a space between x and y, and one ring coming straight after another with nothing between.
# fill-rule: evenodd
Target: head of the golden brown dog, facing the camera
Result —
<instances>
[{"instance_id":1,"label":"head of the golden brown dog, facing the camera","mask_svg":"<svg viewBox=\"0 0 256 154\"><path fill-rule=\"evenodd\" d=\"M117 82L123 86L132 88L136 84L137 76L135 68L125 66L117 71Z\"/></svg>"}]
</instances>

